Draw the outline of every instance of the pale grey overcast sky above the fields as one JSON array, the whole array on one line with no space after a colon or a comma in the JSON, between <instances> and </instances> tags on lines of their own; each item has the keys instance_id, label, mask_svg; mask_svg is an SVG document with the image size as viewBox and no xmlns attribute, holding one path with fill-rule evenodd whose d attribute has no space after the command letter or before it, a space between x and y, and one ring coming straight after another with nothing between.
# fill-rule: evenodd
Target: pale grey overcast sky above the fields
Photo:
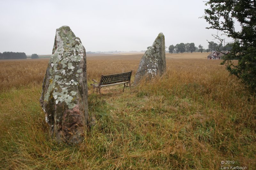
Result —
<instances>
[{"instance_id":1,"label":"pale grey overcast sky above the fields","mask_svg":"<svg viewBox=\"0 0 256 170\"><path fill-rule=\"evenodd\" d=\"M140 51L158 33L165 46L194 42L207 48L202 0L0 0L0 52L52 54L56 29L70 26L86 51ZM217 40L213 40L217 43Z\"/></svg>"}]
</instances>

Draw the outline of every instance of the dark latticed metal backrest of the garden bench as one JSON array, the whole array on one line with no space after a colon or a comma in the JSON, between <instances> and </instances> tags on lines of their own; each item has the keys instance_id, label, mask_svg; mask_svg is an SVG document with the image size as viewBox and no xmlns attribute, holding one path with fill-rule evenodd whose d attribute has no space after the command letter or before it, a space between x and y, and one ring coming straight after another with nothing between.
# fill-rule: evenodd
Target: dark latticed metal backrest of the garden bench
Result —
<instances>
[{"instance_id":1,"label":"dark latticed metal backrest of the garden bench","mask_svg":"<svg viewBox=\"0 0 256 170\"><path fill-rule=\"evenodd\" d=\"M131 81L132 71L111 74L111 75L102 75L100 78L99 85L109 85L114 83L120 83L124 81Z\"/></svg>"}]
</instances>

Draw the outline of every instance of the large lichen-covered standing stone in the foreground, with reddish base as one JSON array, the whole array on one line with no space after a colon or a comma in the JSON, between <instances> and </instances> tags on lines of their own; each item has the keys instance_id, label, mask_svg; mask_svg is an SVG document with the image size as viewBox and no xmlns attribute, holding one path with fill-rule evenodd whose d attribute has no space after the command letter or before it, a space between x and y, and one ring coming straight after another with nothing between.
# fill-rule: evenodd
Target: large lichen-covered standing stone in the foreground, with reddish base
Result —
<instances>
[{"instance_id":1,"label":"large lichen-covered standing stone in the foreground, with reddish base","mask_svg":"<svg viewBox=\"0 0 256 170\"><path fill-rule=\"evenodd\" d=\"M83 141L88 125L87 94L84 46L69 26L62 26L56 29L40 98L45 121L57 141Z\"/></svg>"}]
</instances>

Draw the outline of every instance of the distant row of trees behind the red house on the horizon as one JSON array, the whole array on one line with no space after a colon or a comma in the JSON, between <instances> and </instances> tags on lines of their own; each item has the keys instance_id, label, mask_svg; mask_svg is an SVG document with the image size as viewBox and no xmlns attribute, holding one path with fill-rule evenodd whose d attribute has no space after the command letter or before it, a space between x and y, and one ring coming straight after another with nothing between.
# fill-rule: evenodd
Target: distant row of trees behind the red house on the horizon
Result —
<instances>
[{"instance_id":1,"label":"distant row of trees behind the red house on the horizon","mask_svg":"<svg viewBox=\"0 0 256 170\"><path fill-rule=\"evenodd\" d=\"M184 52L212 52L212 51L230 51L232 49L232 43L228 43L225 46L223 46L222 44L217 44L213 41L209 42L208 48L204 49L204 47L200 44L198 47L195 46L195 43L180 43L180 44L176 44L174 45L170 45L169 46L169 53L184 53Z\"/></svg>"}]
</instances>

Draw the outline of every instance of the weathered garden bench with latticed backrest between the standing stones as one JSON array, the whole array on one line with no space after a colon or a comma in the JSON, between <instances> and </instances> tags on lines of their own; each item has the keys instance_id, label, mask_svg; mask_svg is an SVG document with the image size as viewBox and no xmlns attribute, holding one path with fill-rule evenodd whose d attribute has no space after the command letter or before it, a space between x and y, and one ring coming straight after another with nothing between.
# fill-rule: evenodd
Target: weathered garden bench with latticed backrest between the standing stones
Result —
<instances>
[{"instance_id":1,"label":"weathered garden bench with latticed backrest between the standing stones","mask_svg":"<svg viewBox=\"0 0 256 170\"><path fill-rule=\"evenodd\" d=\"M100 82L97 82L96 80L92 79L92 81L94 81L93 84L91 84L93 87L93 92L95 88L100 93L100 89L102 87L108 87L108 86L120 85L120 84L124 84L124 88L131 87L131 75L132 75L132 71L129 71L129 72L118 73L118 74L101 75ZM123 92L124 92L124 89L123 89Z\"/></svg>"}]
</instances>

